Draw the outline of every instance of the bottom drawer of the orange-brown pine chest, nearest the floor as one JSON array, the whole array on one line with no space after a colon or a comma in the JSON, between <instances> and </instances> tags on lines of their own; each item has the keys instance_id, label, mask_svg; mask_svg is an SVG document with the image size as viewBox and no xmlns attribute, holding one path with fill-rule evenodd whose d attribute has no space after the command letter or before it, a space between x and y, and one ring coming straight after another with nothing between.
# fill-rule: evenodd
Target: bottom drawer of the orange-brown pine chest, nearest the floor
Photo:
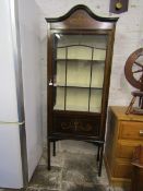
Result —
<instances>
[{"instance_id":1,"label":"bottom drawer of the orange-brown pine chest, nearest the floor","mask_svg":"<svg viewBox=\"0 0 143 191\"><path fill-rule=\"evenodd\" d=\"M114 177L116 178L131 178L132 166L130 163L116 160L114 168Z\"/></svg>"}]
</instances>

